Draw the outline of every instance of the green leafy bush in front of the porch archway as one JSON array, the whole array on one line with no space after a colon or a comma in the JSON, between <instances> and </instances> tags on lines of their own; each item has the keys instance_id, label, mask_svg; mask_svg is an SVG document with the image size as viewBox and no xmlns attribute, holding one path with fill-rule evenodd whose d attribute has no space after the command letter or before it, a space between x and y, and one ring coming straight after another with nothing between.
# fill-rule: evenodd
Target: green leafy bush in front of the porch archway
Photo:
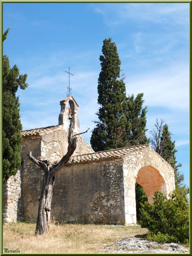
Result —
<instances>
[{"instance_id":1,"label":"green leafy bush in front of the porch archway","mask_svg":"<svg viewBox=\"0 0 192 256\"><path fill-rule=\"evenodd\" d=\"M154 193L154 203L141 204L141 227L149 229L148 239L164 243L188 243L189 204L187 190L174 190L169 199L161 191Z\"/></svg>"}]
</instances>

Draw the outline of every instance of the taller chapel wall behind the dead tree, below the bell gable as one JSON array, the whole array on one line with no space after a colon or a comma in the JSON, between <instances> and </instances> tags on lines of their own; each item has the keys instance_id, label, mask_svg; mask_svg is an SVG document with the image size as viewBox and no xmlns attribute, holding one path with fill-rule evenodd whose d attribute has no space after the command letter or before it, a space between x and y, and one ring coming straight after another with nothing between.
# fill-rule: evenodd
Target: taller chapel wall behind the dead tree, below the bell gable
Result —
<instances>
[{"instance_id":1,"label":"taller chapel wall behind the dead tree, below the bell gable","mask_svg":"<svg viewBox=\"0 0 192 256\"><path fill-rule=\"evenodd\" d=\"M67 153L67 136L65 130L55 131L43 136L24 137L22 140L22 190L24 200L24 218L36 220L38 213L38 205L43 183L43 171L34 163L32 163L27 153L40 159L48 159L51 163L60 161L62 156ZM93 152L91 147L83 138L78 135L77 148L74 154L82 152ZM57 178L57 177L56 177ZM55 189L55 187L54 187Z\"/></svg>"}]
</instances>

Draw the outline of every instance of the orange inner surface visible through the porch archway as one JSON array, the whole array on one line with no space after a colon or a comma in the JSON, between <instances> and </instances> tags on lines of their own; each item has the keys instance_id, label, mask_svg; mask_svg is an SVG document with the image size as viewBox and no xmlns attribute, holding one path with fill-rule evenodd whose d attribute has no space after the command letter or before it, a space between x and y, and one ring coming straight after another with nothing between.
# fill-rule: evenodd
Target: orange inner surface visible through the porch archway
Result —
<instances>
[{"instance_id":1,"label":"orange inner surface visible through the porch archway","mask_svg":"<svg viewBox=\"0 0 192 256\"><path fill-rule=\"evenodd\" d=\"M160 172L151 165L139 169L136 182L144 189L149 203L153 203L154 192L157 190L167 195L165 180Z\"/></svg>"}]
</instances>

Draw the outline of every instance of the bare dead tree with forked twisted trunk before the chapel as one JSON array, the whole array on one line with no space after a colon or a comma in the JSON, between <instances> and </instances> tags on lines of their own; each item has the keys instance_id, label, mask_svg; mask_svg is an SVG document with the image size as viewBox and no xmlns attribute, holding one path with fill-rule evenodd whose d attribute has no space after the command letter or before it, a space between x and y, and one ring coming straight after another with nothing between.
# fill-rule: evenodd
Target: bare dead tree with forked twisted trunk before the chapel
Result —
<instances>
[{"instance_id":1,"label":"bare dead tree with forked twisted trunk before the chapel","mask_svg":"<svg viewBox=\"0 0 192 256\"><path fill-rule=\"evenodd\" d=\"M51 201L53 195L53 186L55 182L55 174L69 162L69 159L76 149L77 138L74 137L78 134L72 135L74 130L73 123L69 126L68 136L68 149L67 154L62 157L59 163L51 166L48 160L40 160L32 156L31 152L28 153L29 159L38 165L43 171L43 186L41 196L39 199L39 209L36 223L35 234L43 234L48 231L50 218L51 218Z\"/></svg>"}]
</instances>

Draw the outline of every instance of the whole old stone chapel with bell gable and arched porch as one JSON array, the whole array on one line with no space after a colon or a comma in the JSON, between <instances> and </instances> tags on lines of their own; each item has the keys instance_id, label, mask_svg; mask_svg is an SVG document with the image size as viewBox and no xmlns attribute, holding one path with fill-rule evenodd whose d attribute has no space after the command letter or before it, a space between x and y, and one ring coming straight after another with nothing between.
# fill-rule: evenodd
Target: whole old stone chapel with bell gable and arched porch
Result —
<instances>
[{"instance_id":1,"label":"whole old stone chapel with bell gable and arched porch","mask_svg":"<svg viewBox=\"0 0 192 256\"><path fill-rule=\"evenodd\" d=\"M43 171L27 153L54 163L67 153L69 122L79 133L78 103L60 101L58 125L22 131L22 166L3 185L4 222L36 220ZM55 177L51 218L65 222L136 223L135 183L148 201L175 189L174 170L149 144L94 152L78 135L71 159Z\"/></svg>"}]
</instances>

